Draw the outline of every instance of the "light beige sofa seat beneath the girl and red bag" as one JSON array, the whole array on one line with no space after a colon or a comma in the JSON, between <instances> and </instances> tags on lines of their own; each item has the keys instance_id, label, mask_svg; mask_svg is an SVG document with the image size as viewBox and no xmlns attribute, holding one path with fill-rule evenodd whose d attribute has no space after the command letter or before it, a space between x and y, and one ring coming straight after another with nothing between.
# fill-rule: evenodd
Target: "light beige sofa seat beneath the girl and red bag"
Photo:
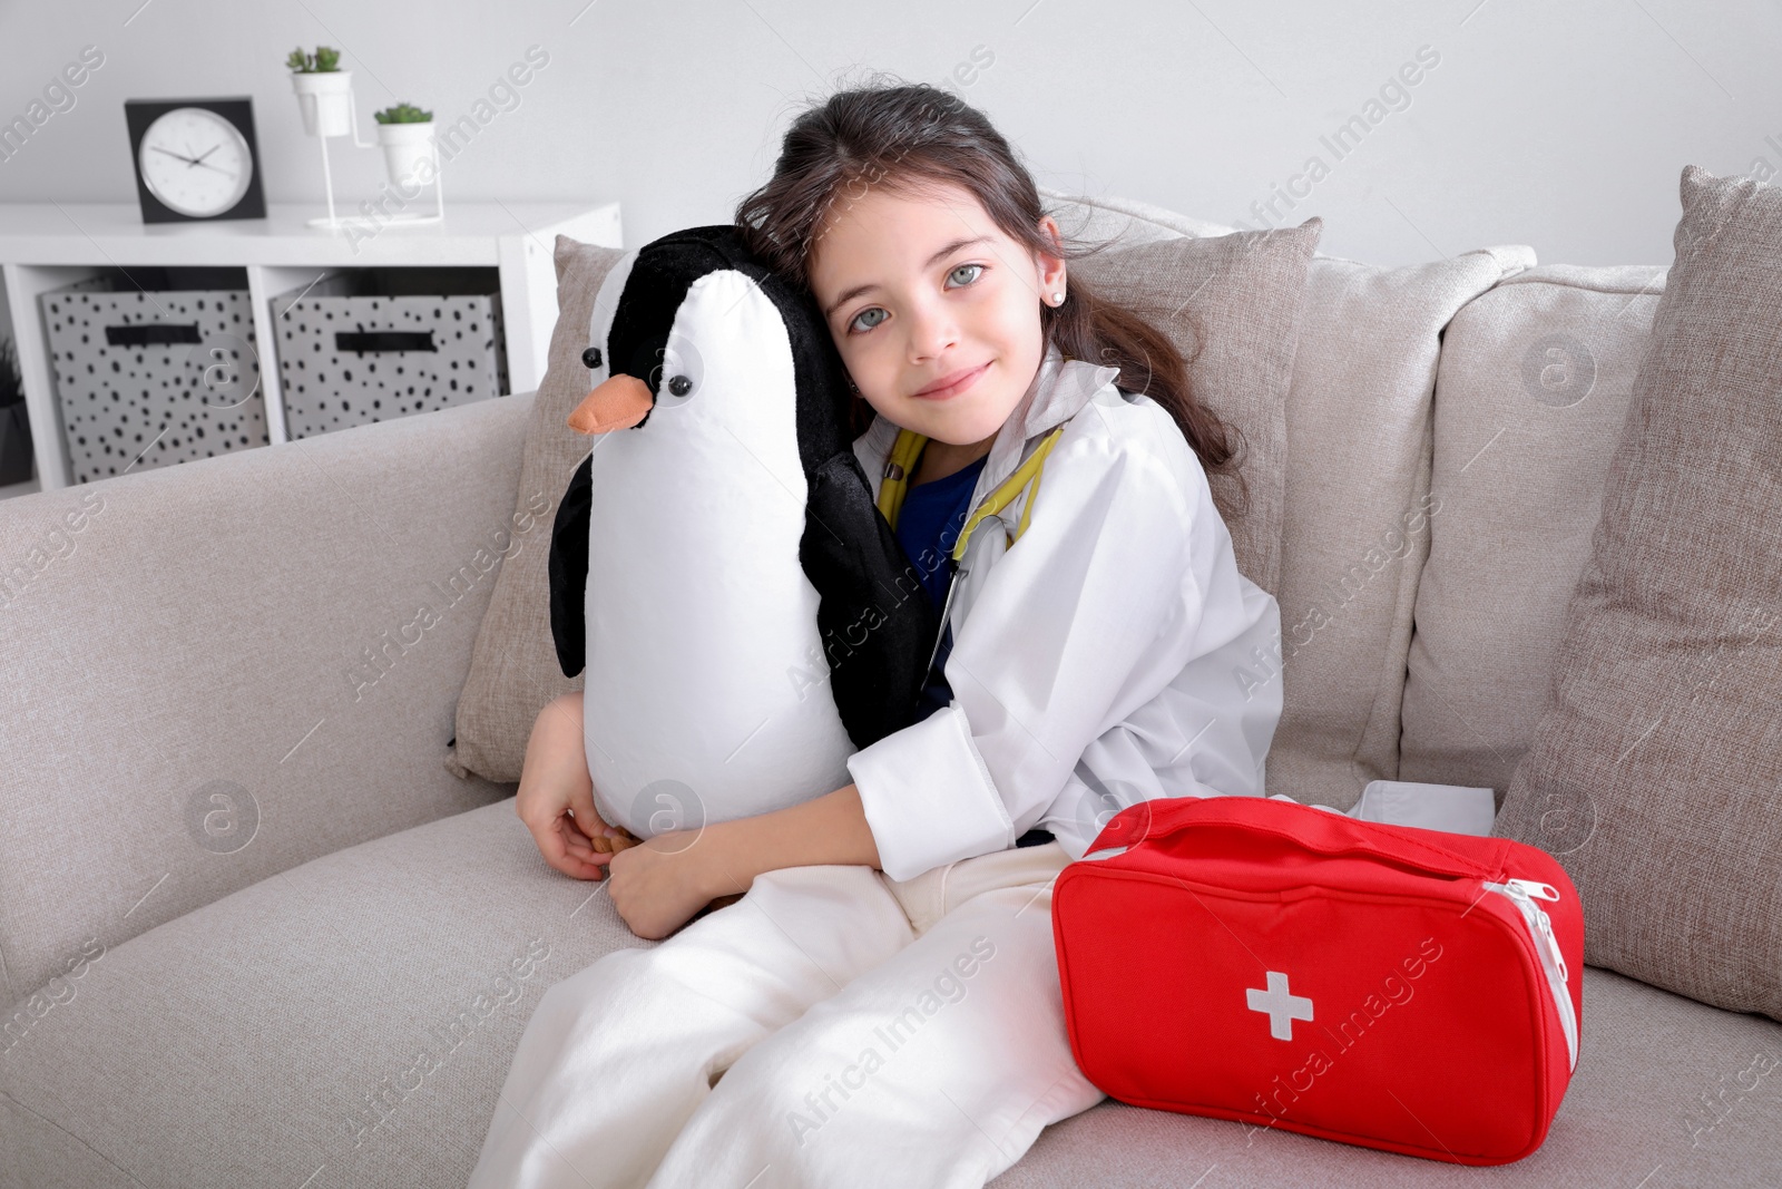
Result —
<instances>
[{"instance_id":1,"label":"light beige sofa seat beneath the girl and red bag","mask_svg":"<svg viewBox=\"0 0 1782 1189\"><path fill-rule=\"evenodd\" d=\"M0 1189L460 1189L545 988L650 945L544 863L511 800L324 856L86 964L0 1055ZM1108 1100L993 1184L1189 1185L1215 1162L1206 1185L1775 1184L1782 1025L1582 977L1577 1073L1518 1164Z\"/></svg>"}]
</instances>

